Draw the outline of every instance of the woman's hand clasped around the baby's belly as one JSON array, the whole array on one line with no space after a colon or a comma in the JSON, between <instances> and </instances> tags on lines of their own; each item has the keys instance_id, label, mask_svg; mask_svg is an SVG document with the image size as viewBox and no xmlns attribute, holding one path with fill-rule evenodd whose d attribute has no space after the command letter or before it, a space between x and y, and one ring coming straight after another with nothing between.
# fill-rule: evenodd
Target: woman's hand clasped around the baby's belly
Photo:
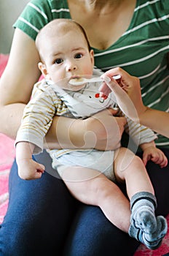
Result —
<instances>
[{"instance_id":1,"label":"woman's hand clasped around the baby's belly","mask_svg":"<svg viewBox=\"0 0 169 256\"><path fill-rule=\"evenodd\" d=\"M84 120L85 146L89 145L98 150L114 150L120 146L126 118L113 116L116 113L117 110L103 110Z\"/></svg>"}]
</instances>

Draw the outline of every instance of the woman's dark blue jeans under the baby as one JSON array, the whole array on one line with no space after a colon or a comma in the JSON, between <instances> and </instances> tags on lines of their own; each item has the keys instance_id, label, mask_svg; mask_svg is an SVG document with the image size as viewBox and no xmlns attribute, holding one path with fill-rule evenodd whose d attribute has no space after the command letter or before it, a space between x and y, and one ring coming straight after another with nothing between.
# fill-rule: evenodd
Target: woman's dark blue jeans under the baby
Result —
<instances>
[{"instance_id":1,"label":"woman's dark blue jeans under the baby","mask_svg":"<svg viewBox=\"0 0 169 256\"><path fill-rule=\"evenodd\" d=\"M125 255L134 254L138 241L112 225L100 208L76 201L63 181L55 178L45 151L36 159L47 170L38 180L23 181L16 163L12 166L9 207L0 226L0 256L119 256L124 248ZM149 167L157 212L168 214L168 167L161 169L151 162Z\"/></svg>"}]
</instances>

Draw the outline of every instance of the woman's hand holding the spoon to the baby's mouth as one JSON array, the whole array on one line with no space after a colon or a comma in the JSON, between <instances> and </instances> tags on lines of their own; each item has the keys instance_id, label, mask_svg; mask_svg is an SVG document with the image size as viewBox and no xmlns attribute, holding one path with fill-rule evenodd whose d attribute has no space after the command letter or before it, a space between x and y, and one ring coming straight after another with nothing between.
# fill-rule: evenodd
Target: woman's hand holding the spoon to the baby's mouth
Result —
<instances>
[{"instance_id":1,"label":"woman's hand holding the spoon to the baby's mouth","mask_svg":"<svg viewBox=\"0 0 169 256\"><path fill-rule=\"evenodd\" d=\"M121 76L118 83L112 78L114 75ZM123 113L138 121L138 115L146 111L141 98L140 80L119 67L110 69L102 75L102 78L106 83L101 86L101 93L108 95L113 91Z\"/></svg>"}]
</instances>

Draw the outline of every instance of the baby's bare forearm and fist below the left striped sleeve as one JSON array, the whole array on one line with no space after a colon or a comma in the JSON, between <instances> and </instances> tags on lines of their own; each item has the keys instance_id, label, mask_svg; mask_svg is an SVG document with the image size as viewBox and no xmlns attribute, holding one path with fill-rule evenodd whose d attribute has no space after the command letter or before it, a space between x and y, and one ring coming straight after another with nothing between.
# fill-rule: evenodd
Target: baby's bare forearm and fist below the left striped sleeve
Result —
<instances>
[{"instance_id":1,"label":"baby's bare forearm and fist below the left striped sleeve","mask_svg":"<svg viewBox=\"0 0 169 256\"><path fill-rule=\"evenodd\" d=\"M44 165L40 165L32 159L34 144L25 141L16 145L16 161L18 175L25 180L41 178L44 173Z\"/></svg>"}]
</instances>

